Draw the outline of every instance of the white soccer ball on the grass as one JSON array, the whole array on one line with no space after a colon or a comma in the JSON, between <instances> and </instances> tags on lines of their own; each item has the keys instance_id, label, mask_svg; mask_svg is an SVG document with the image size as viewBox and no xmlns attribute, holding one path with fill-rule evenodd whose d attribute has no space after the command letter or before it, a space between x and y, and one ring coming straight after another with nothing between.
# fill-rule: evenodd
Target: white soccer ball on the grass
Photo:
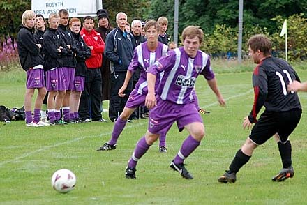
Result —
<instances>
[{"instance_id":1,"label":"white soccer ball on the grass","mask_svg":"<svg viewBox=\"0 0 307 205\"><path fill-rule=\"evenodd\" d=\"M54 190L61 193L67 193L75 188L76 180L75 174L70 170L59 169L52 175L51 185Z\"/></svg>"}]
</instances>

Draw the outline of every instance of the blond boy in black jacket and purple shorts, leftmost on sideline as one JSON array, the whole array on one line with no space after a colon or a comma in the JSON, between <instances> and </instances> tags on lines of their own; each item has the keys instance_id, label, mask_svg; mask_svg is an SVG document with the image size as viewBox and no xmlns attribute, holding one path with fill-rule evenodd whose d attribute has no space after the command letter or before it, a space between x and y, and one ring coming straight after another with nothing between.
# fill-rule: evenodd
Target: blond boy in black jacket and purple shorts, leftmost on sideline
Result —
<instances>
[{"instance_id":1,"label":"blond boy in black jacket and purple shorts, leftmost on sideline","mask_svg":"<svg viewBox=\"0 0 307 205\"><path fill-rule=\"evenodd\" d=\"M40 109L46 95L43 56L40 54L40 43L33 35L35 26L35 13L26 10L22 14L22 27L17 34L17 47L22 68L27 72L27 90L24 96L24 110L26 115L26 126L40 127L49 124L40 121ZM34 105L34 119L32 118L31 98L35 89L38 96Z\"/></svg>"}]
</instances>

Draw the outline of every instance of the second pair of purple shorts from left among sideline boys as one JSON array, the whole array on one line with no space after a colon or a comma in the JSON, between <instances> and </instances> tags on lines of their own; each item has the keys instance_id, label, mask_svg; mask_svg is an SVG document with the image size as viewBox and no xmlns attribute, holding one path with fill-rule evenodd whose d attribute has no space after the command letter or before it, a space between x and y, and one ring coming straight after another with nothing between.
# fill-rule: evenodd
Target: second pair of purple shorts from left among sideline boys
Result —
<instances>
[{"instance_id":1,"label":"second pair of purple shorts from left among sideline boys","mask_svg":"<svg viewBox=\"0 0 307 205\"><path fill-rule=\"evenodd\" d=\"M52 68L46 72L47 91L66 91L65 79L61 68Z\"/></svg>"}]
</instances>

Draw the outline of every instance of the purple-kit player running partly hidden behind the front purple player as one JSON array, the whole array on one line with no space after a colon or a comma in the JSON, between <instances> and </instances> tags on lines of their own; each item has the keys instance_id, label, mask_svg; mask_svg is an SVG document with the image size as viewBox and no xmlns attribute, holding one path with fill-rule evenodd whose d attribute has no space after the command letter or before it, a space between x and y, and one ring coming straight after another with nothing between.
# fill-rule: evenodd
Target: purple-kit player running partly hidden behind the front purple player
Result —
<instances>
[{"instance_id":1,"label":"purple-kit player running partly hidden behind the front purple player","mask_svg":"<svg viewBox=\"0 0 307 205\"><path fill-rule=\"evenodd\" d=\"M117 139L123 131L123 128L126 126L130 115L137 107L144 105L147 95L147 69L153 65L156 59L159 59L161 56L166 54L168 50L167 45L158 42L158 28L158 23L154 20L150 20L144 26L147 42L135 47L133 59L128 67L125 81L123 82L121 89L119 89L119 96L125 96L124 92L126 91L126 87L133 76L133 73L135 70L142 68L140 79L137 84L135 84L135 89L130 93L126 106L123 108L123 112L121 112L121 115L114 124L112 138L109 142L106 142L103 146L97 149L98 151L116 149ZM156 81L156 87L159 82L159 80Z\"/></svg>"}]
</instances>

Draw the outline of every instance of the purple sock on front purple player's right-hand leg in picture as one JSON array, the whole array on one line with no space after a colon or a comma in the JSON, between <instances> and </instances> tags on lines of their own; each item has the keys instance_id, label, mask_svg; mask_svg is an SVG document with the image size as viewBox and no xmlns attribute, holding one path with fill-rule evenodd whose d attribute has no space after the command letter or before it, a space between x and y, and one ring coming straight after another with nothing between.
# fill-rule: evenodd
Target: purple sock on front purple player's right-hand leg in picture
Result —
<instances>
[{"instance_id":1,"label":"purple sock on front purple player's right-hand leg in picture","mask_svg":"<svg viewBox=\"0 0 307 205\"><path fill-rule=\"evenodd\" d=\"M182 143L180 151L174 158L174 163L177 165L184 163L184 160L188 157L188 155L190 155L190 153L192 153L199 145L200 142L188 135L186 140L184 140L184 143Z\"/></svg>"}]
</instances>

